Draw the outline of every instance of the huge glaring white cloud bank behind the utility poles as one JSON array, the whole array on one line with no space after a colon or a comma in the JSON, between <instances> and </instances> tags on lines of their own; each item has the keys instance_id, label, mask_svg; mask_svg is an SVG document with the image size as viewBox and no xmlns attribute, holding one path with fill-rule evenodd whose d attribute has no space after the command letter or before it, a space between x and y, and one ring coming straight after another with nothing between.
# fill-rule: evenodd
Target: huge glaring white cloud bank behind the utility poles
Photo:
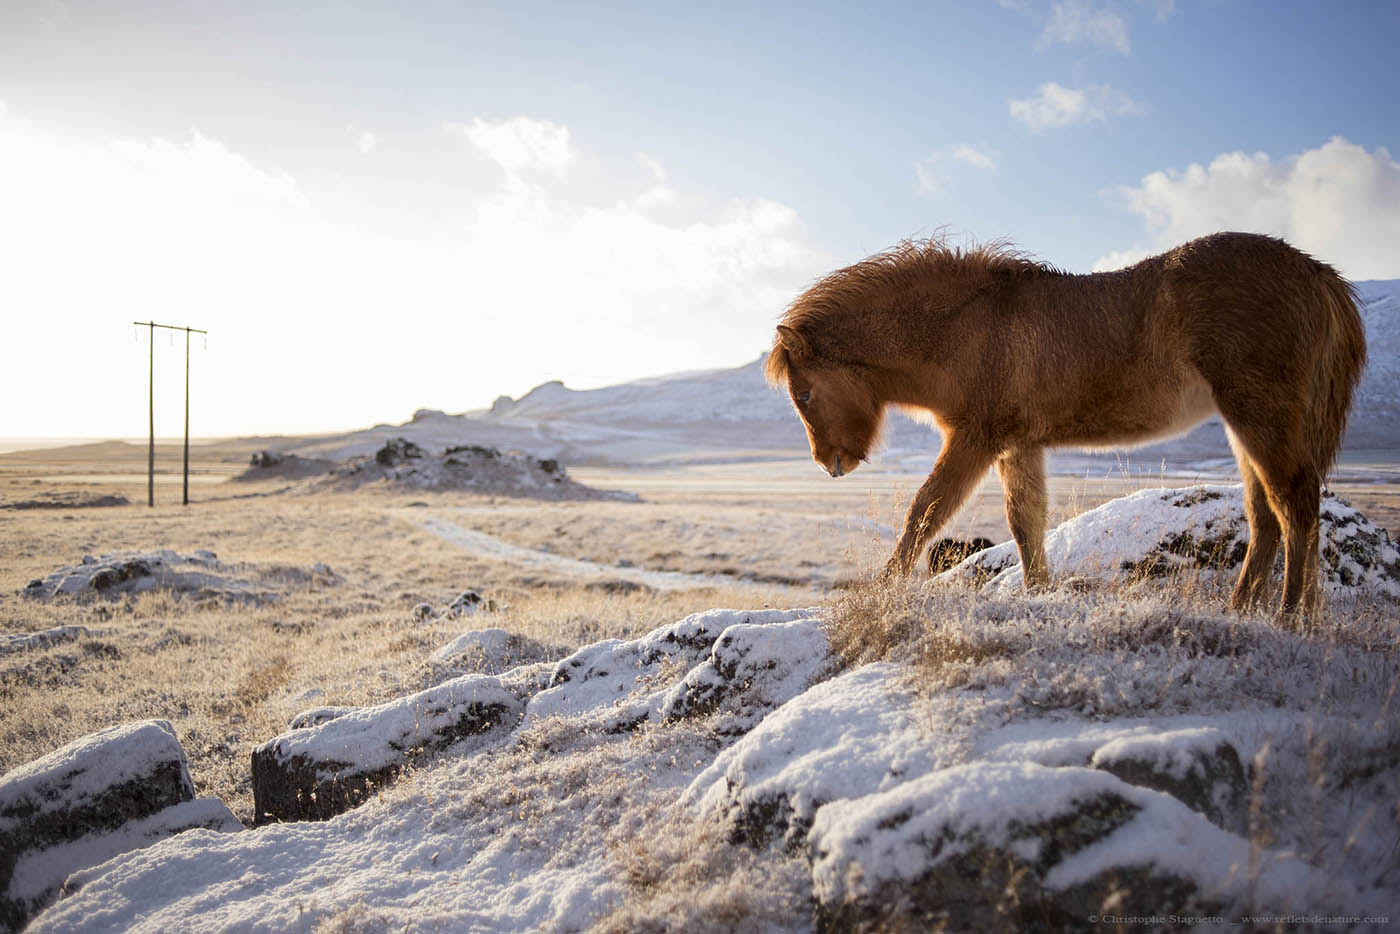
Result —
<instances>
[{"instance_id":1,"label":"huge glaring white cloud bank behind the utility poles","mask_svg":"<svg viewBox=\"0 0 1400 934\"><path fill-rule=\"evenodd\" d=\"M347 428L550 378L752 358L830 258L784 204L658 211L658 188L617 200L507 172L451 235L413 232L372 206L363 227L333 220L291 175L197 133L81 144L0 118L0 395L42 400L11 406L6 430L144 434L130 322L151 316L210 332L196 434ZM182 347L158 339L155 363L157 433L178 433Z\"/></svg>"}]
</instances>

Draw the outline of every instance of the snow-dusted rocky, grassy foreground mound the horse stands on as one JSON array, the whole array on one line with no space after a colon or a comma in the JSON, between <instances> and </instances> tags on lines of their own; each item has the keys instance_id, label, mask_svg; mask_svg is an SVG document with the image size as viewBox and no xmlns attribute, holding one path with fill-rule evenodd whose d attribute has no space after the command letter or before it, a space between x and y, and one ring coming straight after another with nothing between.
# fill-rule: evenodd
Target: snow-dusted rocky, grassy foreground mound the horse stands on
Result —
<instances>
[{"instance_id":1,"label":"snow-dusted rocky, grassy foreground mound the horse stands on","mask_svg":"<svg viewBox=\"0 0 1400 934\"><path fill-rule=\"evenodd\" d=\"M816 611L699 613L307 711L263 749L300 756L316 794L392 767L375 794L85 868L32 930L1394 917L1386 594L1334 599L1308 630L1151 576L1033 595L886 583ZM477 630L452 651L507 648Z\"/></svg>"}]
</instances>

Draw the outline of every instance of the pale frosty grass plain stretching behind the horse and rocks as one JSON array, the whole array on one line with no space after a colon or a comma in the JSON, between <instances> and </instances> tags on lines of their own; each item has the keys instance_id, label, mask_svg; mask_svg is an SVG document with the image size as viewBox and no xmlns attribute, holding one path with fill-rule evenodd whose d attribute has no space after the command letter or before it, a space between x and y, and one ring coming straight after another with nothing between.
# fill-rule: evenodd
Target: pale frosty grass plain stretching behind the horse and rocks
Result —
<instances>
[{"instance_id":1,"label":"pale frosty grass plain stretching behind the horse and rocks","mask_svg":"<svg viewBox=\"0 0 1400 934\"><path fill-rule=\"evenodd\" d=\"M146 449L105 442L0 455L0 632L85 626L91 634L0 655L0 772L105 725L168 718L203 794L252 811L252 748L300 710L368 704L430 683L428 655L455 634L503 626L543 655L636 636L713 608L825 602L888 555L920 478L867 472L833 482L811 462L669 471L578 469L584 483L641 503L540 503L452 493L298 496L281 483L228 483L260 442L196 445L192 504L179 506L179 449L161 445L157 506L146 501ZM174 471L174 472L171 472ZM1155 483L1154 483L1155 485ZM1121 478L1057 478L1053 520L1144 486ZM1394 528L1400 490L1343 490ZM77 507L125 496L130 504ZM693 588L624 587L606 574L483 557L424 527L433 517L515 546L608 566L708 576ZM988 478L948 535L1007 538ZM25 584L84 555L209 549L242 576L281 583L276 601L245 605L147 594L38 602ZM291 570L323 563L335 578ZM288 570L290 569L290 570ZM286 571L286 573L284 573ZM466 588L505 605L491 616L416 620Z\"/></svg>"}]
</instances>

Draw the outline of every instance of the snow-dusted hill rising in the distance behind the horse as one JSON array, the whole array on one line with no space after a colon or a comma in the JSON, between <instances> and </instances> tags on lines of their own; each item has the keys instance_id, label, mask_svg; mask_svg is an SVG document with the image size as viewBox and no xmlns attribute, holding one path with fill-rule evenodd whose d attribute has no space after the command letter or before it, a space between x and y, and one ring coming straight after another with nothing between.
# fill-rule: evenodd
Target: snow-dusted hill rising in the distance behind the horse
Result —
<instances>
[{"instance_id":1,"label":"snow-dusted hill rising in the distance behind the horse","mask_svg":"<svg viewBox=\"0 0 1400 934\"><path fill-rule=\"evenodd\" d=\"M1400 280L1358 284L1371 363L1352 407L1344 449L1400 451ZM806 455L806 438L787 396L763 381L763 360L729 370L706 370L638 379L601 389L570 389L546 382L519 399L501 396L489 410L449 416L420 410L402 426L318 438L295 445L302 455L346 458L364 455L391 437L423 447L489 444L517 448L566 463L657 463ZM927 469L938 448L925 426L892 414L879 459L909 459ZM1138 448L1133 462L1159 468L1198 469L1231 452L1225 431L1212 419L1190 434ZM1113 463L1116 454L1065 454L1051 461L1060 469Z\"/></svg>"}]
</instances>

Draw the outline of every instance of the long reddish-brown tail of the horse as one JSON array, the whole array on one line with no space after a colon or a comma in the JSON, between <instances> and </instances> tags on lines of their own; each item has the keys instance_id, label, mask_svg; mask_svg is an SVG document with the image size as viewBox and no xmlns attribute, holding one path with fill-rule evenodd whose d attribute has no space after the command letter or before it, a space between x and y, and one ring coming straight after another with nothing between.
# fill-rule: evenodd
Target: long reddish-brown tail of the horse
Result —
<instances>
[{"instance_id":1,"label":"long reddish-brown tail of the horse","mask_svg":"<svg viewBox=\"0 0 1400 934\"><path fill-rule=\"evenodd\" d=\"M1324 478L1337 459L1351 410L1351 393L1366 367L1366 329L1355 286L1330 266L1322 267L1319 284L1326 314L1320 335L1322 360L1309 414L1316 466Z\"/></svg>"}]
</instances>

